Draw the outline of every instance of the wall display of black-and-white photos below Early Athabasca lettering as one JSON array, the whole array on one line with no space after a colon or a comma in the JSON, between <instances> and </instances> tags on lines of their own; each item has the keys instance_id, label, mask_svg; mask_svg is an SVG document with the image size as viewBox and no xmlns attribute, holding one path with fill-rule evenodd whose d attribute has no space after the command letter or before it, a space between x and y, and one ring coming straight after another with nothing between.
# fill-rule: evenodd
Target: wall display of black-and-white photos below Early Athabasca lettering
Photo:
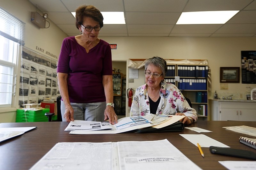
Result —
<instances>
[{"instance_id":1,"label":"wall display of black-and-white photos below Early Athabasca lettering","mask_svg":"<svg viewBox=\"0 0 256 170\"><path fill-rule=\"evenodd\" d=\"M59 95L57 61L23 47L19 106L40 103L44 98L57 98Z\"/></svg>"}]
</instances>

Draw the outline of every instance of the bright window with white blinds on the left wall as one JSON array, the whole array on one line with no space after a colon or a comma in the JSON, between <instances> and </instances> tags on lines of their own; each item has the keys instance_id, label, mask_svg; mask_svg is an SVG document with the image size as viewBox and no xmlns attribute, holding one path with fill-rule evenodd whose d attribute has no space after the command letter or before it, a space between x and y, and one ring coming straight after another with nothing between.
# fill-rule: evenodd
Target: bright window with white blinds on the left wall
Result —
<instances>
[{"instance_id":1,"label":"bright window with white blinds on the left wall","mask_svg":"<svg viewBox=\"0 0 256 170\"><path fill-rule=\"evenodd\" d=\"M22 21L0 8L0 107L12 106L24 27Z\"/></svg>"}]
</instances>

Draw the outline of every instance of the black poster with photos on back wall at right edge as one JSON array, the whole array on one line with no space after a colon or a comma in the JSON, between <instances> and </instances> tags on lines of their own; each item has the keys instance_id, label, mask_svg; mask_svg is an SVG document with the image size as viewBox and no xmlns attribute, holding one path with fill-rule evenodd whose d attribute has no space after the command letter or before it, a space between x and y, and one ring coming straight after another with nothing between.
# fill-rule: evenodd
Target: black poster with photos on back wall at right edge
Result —
<instances>
[{"instance_id":1,"label":"black poster with photos on back wall at right edge","mask_svg":"<svg viewBox=\"0 0 256 170\"><path fill-rule=\"evenodd\" d=\"M256 51L241 51L242 83L256 84Z\"/></svg>"}]
</instances>

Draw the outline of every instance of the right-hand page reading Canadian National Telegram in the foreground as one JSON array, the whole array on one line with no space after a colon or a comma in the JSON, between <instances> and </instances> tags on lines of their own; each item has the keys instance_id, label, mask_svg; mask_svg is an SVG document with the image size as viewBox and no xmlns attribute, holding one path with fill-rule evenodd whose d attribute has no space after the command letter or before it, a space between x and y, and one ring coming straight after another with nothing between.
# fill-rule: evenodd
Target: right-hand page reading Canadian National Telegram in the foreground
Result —
<instances>
[{"instance_id":1,"label":"right-hand page reading Canadian National Telegram in the foreground","mask_svg":"<svg viewBox=\"0 0 256 170\"><path fill-rule=\"evenodd\" d=\"M117 142L121 170L201 169L167 139L159 141Z\"/></svg>"}]
</instances>

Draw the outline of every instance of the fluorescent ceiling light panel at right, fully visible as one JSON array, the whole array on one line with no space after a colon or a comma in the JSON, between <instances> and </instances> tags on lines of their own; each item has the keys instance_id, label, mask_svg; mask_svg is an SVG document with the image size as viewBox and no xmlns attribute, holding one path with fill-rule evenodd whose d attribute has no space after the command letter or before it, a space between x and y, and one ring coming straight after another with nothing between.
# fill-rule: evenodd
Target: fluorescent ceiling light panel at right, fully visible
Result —
<instances>
[{"instance_id":1,"label":"fluorescent ceiling light panel at right, fully visible","mask_svg":"<svg viewBox=\"0 0 256 170\"><path fill-rule=\"evenodd\" d=\"M239 11L182 12L176 24L225 24Z\"/></svg>"}]
</instances>

